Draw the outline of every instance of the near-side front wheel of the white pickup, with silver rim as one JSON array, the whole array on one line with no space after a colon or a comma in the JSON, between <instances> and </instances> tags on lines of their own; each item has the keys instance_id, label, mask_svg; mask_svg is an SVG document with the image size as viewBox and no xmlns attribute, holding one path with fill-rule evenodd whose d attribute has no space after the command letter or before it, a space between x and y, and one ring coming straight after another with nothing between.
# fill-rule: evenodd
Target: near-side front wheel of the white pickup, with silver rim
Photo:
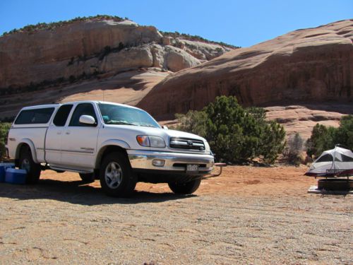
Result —
<instances>
[{"instance_id":1,"label":"near-side front wheel of the white pickup, with silver rim","mask_svg":"<svg viewBox=\"0 0 353 265\"><path fill-rule=\"evenodd\" d=\"M131 195L137 178L131 170L126 155L121 152L109 153L100 167L100 185L105 194L115 197Z\"/></svg>"}]
</instances>

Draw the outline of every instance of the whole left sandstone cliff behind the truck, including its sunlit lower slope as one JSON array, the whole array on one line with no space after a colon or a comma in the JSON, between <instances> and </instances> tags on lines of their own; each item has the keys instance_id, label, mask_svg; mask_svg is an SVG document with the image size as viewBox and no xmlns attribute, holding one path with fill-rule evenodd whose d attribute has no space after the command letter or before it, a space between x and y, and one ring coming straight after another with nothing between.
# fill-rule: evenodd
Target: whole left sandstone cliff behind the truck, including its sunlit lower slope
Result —
<instances>
[{"instance_id":1,"label":"whole left sandstone cliff behind the truck, including its sunlit lower slope","mask_svg":"<svg viewBox=\"0 0 353 265\"><path fill-rule=\"evenodd\" d=\"M102 100L104 91L105 100L135 105L169 73L232 49L173 34L109 16L13 30L0 37L0 119L25 105Z\"/></svg>"}]
</instances>

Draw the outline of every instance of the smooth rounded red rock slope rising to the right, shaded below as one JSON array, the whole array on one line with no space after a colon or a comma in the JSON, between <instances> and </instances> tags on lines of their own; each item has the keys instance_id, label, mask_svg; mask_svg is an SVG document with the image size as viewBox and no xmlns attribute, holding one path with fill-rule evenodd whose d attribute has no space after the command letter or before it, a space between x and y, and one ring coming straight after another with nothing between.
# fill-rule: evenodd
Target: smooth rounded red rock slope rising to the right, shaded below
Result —
<instances>
[{"instance_id":1,"label":"smooth rounded red rock slope rising to the right, shaded below","mask_svg":"<svg viewBox=\"0 0 353 265\"><path fill-rule=\"evenodd\" d=\"M296 30L174 73L138 104L157 119L201 110L217 95L242 105L352 102L353 20Z\"/></svg>"}]
</instances>

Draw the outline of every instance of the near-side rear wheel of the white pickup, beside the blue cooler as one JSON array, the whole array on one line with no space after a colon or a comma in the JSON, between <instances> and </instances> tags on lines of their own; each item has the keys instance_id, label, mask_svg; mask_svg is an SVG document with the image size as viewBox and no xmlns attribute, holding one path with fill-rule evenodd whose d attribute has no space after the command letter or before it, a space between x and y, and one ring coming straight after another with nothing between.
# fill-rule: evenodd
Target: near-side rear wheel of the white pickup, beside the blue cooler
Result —
<instances>
[{"instance_id":1,"label":"near-side rear wheel of the white pickup, beside the blue cooler","mask_svg":"<svg viewBox=\"0 0 353 265\"><path fill-rule=\"evenodd\" d=\"M33 161L32 153L28 146L21 148L18 165L21 170L27 171L25 178L26 184L35 184L38 182L40 179L41 166Z\"/></svg>"}]
</instances>

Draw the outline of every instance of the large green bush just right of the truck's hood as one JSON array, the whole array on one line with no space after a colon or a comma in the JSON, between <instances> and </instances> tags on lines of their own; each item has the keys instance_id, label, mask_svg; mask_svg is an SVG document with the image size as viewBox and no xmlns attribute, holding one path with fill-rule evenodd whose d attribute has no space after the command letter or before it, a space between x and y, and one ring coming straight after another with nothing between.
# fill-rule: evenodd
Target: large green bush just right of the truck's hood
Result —
<instances>
[{"instance_id":1,"label":"large green bush just right of the truck's hood","mask_svg":"<svg viewBox=\"0 0 353 265\"><path fill-rule=\"evenodd\" d=\"M202 111L177 114L177 119L177 129L203 136L217 160L227 163L256 157L274 163L285 146L283 126L265 121L261 108L245 110L235 97L217 97Z\"/></svg>"}]
</instances>

